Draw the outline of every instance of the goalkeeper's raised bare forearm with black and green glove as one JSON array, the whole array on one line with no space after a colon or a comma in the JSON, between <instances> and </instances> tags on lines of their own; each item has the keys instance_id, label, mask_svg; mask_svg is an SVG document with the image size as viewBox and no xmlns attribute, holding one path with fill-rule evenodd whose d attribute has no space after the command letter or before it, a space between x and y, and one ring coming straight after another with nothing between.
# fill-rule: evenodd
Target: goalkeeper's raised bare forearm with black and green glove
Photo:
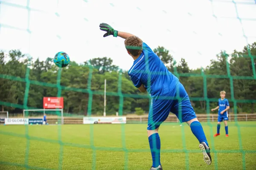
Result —
<instances>
[{"instance_id":1,"label":"goalkeeper's raised bare forearm with black and green glove","mask_svg":"<svg viewBox=\"0 0 256 170\"><path fill-rule=\"evenodd\" d=\"M128 37L134 36L133 34L127 33L127 32L122 32L122 31L117 31L114 28L112 28L110 25L106 23L101 23L99 25L99 29L102 31L106 31L106 33L103 35L103 37L108 37L109 35L113 35L113 37L121 37L123 39L126 39Z\"/></svg>"}]
</instances>

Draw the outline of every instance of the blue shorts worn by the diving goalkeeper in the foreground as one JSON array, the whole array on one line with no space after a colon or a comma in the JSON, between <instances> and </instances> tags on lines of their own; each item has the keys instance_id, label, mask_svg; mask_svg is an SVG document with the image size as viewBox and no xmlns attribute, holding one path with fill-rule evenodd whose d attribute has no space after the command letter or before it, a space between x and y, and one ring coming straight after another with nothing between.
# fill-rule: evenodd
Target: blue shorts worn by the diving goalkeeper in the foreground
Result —
<instances>
[{"instance_id":1,"label":"blue shorts worn by the diving goalkeeper in the foreground","mask_svg":"<svg viewBox=\"0 0 256 170\"><path fill-rule=\"evenodd\" d=\"M176 96L180 96L180 100ZM180 122L187 122L196 118L195 111L189 100L184 86L178 82L174 90L163 99L151 99L151 106L148 114L148 130L157 129L163 123L169 113L174 113Z\"/></svg>"}]
</instances>

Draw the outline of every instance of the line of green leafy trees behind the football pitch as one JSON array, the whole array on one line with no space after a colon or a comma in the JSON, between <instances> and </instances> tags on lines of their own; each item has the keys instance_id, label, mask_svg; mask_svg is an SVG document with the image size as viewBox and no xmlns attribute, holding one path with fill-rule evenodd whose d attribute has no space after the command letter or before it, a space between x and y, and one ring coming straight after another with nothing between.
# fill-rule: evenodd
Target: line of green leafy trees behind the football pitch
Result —
<instances>
[{"instance_id":1,"label":"line of green leafy trees behind the football pitch","mask_svg":"<svg viewBox=\"0 0 256 170\"><path fill-rule=\"evenodd\" d=\"M209 108L216 107L220 97L219 92L223 90L227 93L227 99L231 99L233 96L237 100L238 113L255 112L256 75L253 72L255 73L256 42L244 46L242 51L234 50L232 54L221 51L215 59L210 61L210 65L198 69L190 69L185 59L176 62L163 46L158 46L154 49L154 52L169 71L180 79L191 98L196 113L207 112L207 101L204 98L206 95L211 99ZM107 115L119 111L118 92L120 91L125 94L123 114L134 113L135 108L148 112L150 104L148 95L141 94L134 87L127 71L122 71L121 75L120 73L119 67L113 65L113 60L108 57L93 58L82 64L71 61L67 68L61 69L60 75L60 85L67 87L62 89L60 93L64 97L64 112L87 114L89 93L86 89L90 85L91 91L99 92L93 94L91 113L102 115L104 110L104 95L102 95L102 92L105 87L105 79L107 79L108 92L106 96ZM26 81L16 80L17 78L25 78L26 74L29 74L30 82L38 81L52 85L58 83L58 67L54 65L52 58L47 58L45 61L39 59L32 61L19 50L11 50L8 53L0 51L0 110L22 113L22 109L6 106L3 102L24 104L24 95L28 86L26 86ZM4 75L11 78L6 79ZM233 78L230 79L229 75ZM91 78L90 83L88 83L88 78ZM121 86L119 87L119 85ZM72 89L80 90L73 91ZM28 90L27 106L32 108L43 108L44 96L57 96L58 94L58 88L56 87L42 86L35 83L30 83ZM111 95L111 92L114 92L113 95ZM231 94L232 92L233 94ZM131 96L129 97L129 95ZM232 100L230 100L230 106L231 108L234 107Z\"/></svg>"}]
</instances>

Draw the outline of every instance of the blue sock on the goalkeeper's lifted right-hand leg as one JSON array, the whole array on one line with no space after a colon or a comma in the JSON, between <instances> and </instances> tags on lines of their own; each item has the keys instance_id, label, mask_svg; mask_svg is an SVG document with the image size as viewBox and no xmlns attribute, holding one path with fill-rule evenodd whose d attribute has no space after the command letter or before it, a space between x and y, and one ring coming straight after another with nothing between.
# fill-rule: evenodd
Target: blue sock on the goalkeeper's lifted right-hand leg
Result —
<instances>
[{"instance_id":1,"label":"blue sock on the goalkeeper's lifted right-hand leg","mask_svg":"<svg viewBox=\"0 0 256 170\"><path fill-rule=\"evenodd\" d=\"M206 136L204 134L203 127L200 122L194 121L190 124L190 128L192 133L195 135L195 137L198 139L199 143L205 142L208 145L208 142L206 140Z\"/></svg>"}]
</instances>

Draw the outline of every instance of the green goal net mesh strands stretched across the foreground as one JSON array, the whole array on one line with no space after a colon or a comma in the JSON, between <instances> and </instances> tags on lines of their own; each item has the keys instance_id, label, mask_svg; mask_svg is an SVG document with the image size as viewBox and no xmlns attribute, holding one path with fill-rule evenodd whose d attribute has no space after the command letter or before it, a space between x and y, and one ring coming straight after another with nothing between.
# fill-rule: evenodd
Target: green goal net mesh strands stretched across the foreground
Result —
<instances>
[{"instance_id":1,"label":"green goal net mesh strands stretched across the foreground","mask_svg":"<svg viewBox=\"0 0 256 170\"><path fill-rule=\"evenodd\" d=\"M15 3L12 1L6 1L6 0L1 0L0 1L0 9L1 11L4 10L4 7L6 6L11 6L15 9L18 8L22 8L22 9L26 9L28 12L28 19L27 19L27 25L20 28L20 27L16 27L16 26L12 26L12 25L7 25L3 22L0 23L0 31L4 29L15 29L15 30L19 30L19 31L25 31L27 32L27 36L29 37L28 39L28 51L30 51L30 36L31 36L31 28L30 28L30 22L31 22L31 11L37 11L37 12L41 12L41 13L45 13L48 14L47 11L43 11L43 10L38 10L35 8L31 8L30 7L30 3L32 2L32 0L26 0L26 1L22 1L22 3ZM241 29L243 32L243 36L244 39L246 41L247 44L249 44L248 42L248 38L247 35L245 34L244 28L243 28L243 22L242 21L255 21L256 18L242 18L239 16L239 12L238 12L238 4L242 4L242 5L248 5L248 6L255 6L255 2L253 1L235 1L235 0L210 0L211 5L212 5L212 17L216 20L216 22L218 23L218 19L219 17L217 16L217 14L215 14L214 8L213 8L213 3L214 2L223 2L223 3L231 3L233 4L235 11L236 11L236 20L239 20L239 23L241 24ZM24 3L26 3L26 5L24 5ZM87 0L84 0L84 3L88 3ZM57 8L58 8L58 0L56 1L57 4ZM110 3L110 5L112 7L115 7L114 3ZM141 11L140 7L137 7L138 10ZM166 12L166 11L163 11ZM0 13L1 14L1 13ZM188 13L191 17L193 17L193 15L191 13ZM59 17L58 12L56 12L54 14L55 16ZM1 16L1 15L0 15ZM1 16L1 19L3 19L4 16ZM233 18L229 18L227 17L227 19L233 20ZM87 18L84 18L85 21L88 21ZM168 30L167 30L168 31ZM5 32L0 32L1 35L5 34ZM196 33L195 33L196 34ZM222 36L221 31L219 32L219 35ZM56 34L58 39L61 39L61 36L59 34ZM238 122L238 111L237 111L237 104L238 103L255 103L256 100L255 99L236 99L234 96L234 80L256 80L256 71L255 71L255 62L254 59L256 58L256 56L253 56L250 52L250 47L248 46L247 48L248 50L248 55L243 55L242 57L247 57L251 59L251 66L252 66L252 76L235 76L235 75L231 75L230 73L230 65L229 65L229 55L226 54L225 52L223 53L223 55L225 56L225 63L226 63L226 67L227 67L227 74L226 75L209 75L206 74L204 72L204 69L201 69L201 73L200 74L189 74L189 73L179 73L177 71L177 66L174 66L174 74L175 76L177 76L178 78L180 77L202 77L203 79L203 97L190 97L191 101L205 101L206 102L206 112L207 112L207 125L210 128L210 138L208 139L209 143L211 144L211 152L212 152L212 157L214 161L214 169L218 170L218 153L241 153L242 154L242 167L240 169L247 169L246 167L246 154L255 154L256 150L244 150L243 149L243 145L242 145L242 137L241 137L241 128ZM200 54L200 52L198 52ZM95 91L92 88L92 79L93 79L93 69L94 67L89 65L87 68L88 71L88 77L87 77L87 88L75 88L75 87L67 87L64 85L61 85L61 69L58 69L57 72L57 81L56 84L52 84L52 83L47 83L47 82L40 82L40 81L36 81L36 80L32 80L29 79L29 74L30 74L30 62L31 62L31 58L27 59L27 68L26 68L26 74L25 77L15 77L15 76L11 76L8 74L0 74L0 78L1 79L9 79L12 81L18 81L18 82L24 82L26 84L25 87L25 91L24 91L24 99L23 99L23 105L19 105L19 104L15 104L12 102L4 102L4 101L0 101L0 105L4 105L4 106L9 106L9 107L13 107L13 108L20 108L20 109L37 109L37 108L33 108L33 107L29 107L28 106L28 98L29 98L29 88L31 85L38 85L38 86L45 86L45 87L50 87L50 88L55 88L57 89L57 96L61 97L61 92L62 91L74 91L74 92L82 92L85 94L88 94L88 105L87 105L87 114L88 116L92 116L92 109L93 109L93 96L94 95L103 95L104 92L103 91ZM105 68L103 68L105 69ZM122 93L122 76L124 71L122 69L118 69L118 86L117 86L117 92L107 92L106 95L107 96L117 96L119 97L119 116L123 115L123 108L125 106L124 104L124 99L125 98L141 98L141 99L150 99L150 96L143 96L143 95L139 95L139 94L124 94ZM160 74L160 73L159 73ZM230 97L230 102L233 102L233 113L234 113L234 121L235 124L234 126L237 127L237 133L238 133L238 142L239 142L239 150L216 150L215 149L215 143L214 143L214 139L213 139L213 131L215 131L215 125L213 126L211 122L211 116L210 116L210 102L216 102L218 101L218 99L215 98L208 98L207 96L207 79L229 79L230 81L230 92L231 92L231 97ZM254 81L255 83L255 81ZM180 100L180 97L177 96L177 99ZM149 101L150 103L150 101ZM26 112L25 117L29 116L29 113ZM61 116L60 113L57 113L56 115ZM213 128L214 127L214 128ZM126 170L128 169L128 153L138 153L138 152L148 152L148 150L144 150L144 149L128 149L126 146L126 136L125 136L125 125L121 125L121 140L122 140L122 147L96 147L95 146L95 141L94 141L94 125L90 125L90 144L89 145L84 145L84 144L76 144L76 143L65 143L62 141L61 139L61 126L58 126L58 139L56 140L52 140L52 139L46 139L46 138L38 138L35 136L29 136L29 126L25 126L25 135L20 135L18 133L11 133L11 132L6 132L6 131L0 131L0 134L2 135L8 135L8 136L16 136L16 137L24 137L26 139L26 150L25 150L25 160L24 160L24 164L22 163L13 163L13 162L8 162L8 161L0 161L0 164L2 165L11 165L11 166L16 166L16 167L25 167L26 169L47 169L47 168L42 168L42 167L35 167L35 166L30 166L29 165L29 150L30 150L30 142L32 140L35 141L43 141L43 142L50 142L50 143L58 143L59 144L59 152L58 152L58 169L62 169L63 167L63 155L64 155L64 146L72 146L72 147L82 147L82 148L90 148L92 150L92 158L91 158L91 169L95 170L96 169L96 153L98 150L105 150L105 151L121 151L124 152L124 166L123 168ZM163 153L185 153L185 168L186 170L189 169L189 153L197 153L197 151L195 150L189 150L186 148L186 140L185 140L185 127L181 126L181 134L182 134L182 147L183 149L171 149L171 150L161 150L161 152ZM250 169L250 167L249 167Z\"/></svg>"}]
</instances>

